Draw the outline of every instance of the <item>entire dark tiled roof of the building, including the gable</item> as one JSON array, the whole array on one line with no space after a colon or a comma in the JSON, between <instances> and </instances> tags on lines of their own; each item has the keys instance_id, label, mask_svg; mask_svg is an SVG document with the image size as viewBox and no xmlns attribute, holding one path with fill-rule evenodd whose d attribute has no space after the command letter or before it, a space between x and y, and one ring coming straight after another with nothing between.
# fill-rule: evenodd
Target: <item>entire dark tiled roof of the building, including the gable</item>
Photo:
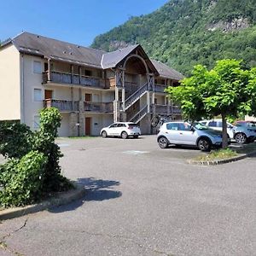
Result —
<instances>
[{"instance_id":1,"label":"entire dark tiled roof of the building, including the gable","mask_svg":"<svg viewBox=\"0 0 256 256\"><path fill-rule=\"evenodd\" d=\"M105 52L99 49L88 48L76 44L62 42L52 38L35 35L29 32L22 32L13 39L9 39L6 44L15 44L15 47L21 52L29 55L39 55L56 61L68 61L96 68L116 67L125 56L131 54L134 49L141 49L143 55L147 57L140 44L131 45L124 49L115 50L113 52ZM148 58L148 57L147 57ZM153 66L152 66L153 64ZM171 67L160 61L148 59L148 65L160 74L160 77L180 80L183 74L178 73Z\"/></svg>"}]
</instances>

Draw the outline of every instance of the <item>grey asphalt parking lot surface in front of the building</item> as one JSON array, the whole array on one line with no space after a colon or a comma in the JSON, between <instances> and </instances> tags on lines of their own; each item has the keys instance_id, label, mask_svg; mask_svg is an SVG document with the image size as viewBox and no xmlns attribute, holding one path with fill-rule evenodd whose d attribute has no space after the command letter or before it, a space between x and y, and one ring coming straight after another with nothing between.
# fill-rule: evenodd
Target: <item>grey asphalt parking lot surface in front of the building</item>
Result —
<instances>
[{"instance_id":1,"label":"grey asphalt parking lot surface in front of the building","mask_svg":"<svg viewBox=\"0 0 256 256\"><path fill-rule=\"evenodd\" d=\"M155 137L59 139L81 201L4 221L0 255L256 255L256 159L188 166Z\"/></svg>"}]
</instances>

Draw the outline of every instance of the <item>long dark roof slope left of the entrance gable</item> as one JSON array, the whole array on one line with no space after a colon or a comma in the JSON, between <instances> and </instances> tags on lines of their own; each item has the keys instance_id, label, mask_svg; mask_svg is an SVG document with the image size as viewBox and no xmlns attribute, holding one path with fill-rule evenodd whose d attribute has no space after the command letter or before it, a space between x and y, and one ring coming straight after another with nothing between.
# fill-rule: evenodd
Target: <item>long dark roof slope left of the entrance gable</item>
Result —
<instances>
[{"instance_id":1,"label":"long dark roof slope left of the entrance gable","mask_svg":"<svg viewBox=\"0 0 256 256\"><path fill-rule=\"evenodd\" d=\"M77 62L102 68L102 55L105 53L102 50L69 44L28 32L21 33L12 42L20 52L26 54L42 55L59 61Z\"/></svg>"}]
</instances>

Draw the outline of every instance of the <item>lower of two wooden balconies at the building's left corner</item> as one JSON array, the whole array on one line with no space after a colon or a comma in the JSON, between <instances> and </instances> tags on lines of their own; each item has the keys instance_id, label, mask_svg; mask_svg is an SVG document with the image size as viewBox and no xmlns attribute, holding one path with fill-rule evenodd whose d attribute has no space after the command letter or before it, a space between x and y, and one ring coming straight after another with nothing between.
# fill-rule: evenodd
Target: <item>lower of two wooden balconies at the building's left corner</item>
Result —
<instances>
[{"instance_id":1,"label":"lower of two wooden balconies at the building's left corner","mask_svg":"<svg viewBox=\"0 0 256 256\"><path fill-rule=\"evenodd\" d=\"M79 102L63 101L63 100L44 100L44 108L58 108L60 112L79 111Z\"/></svg>"}]
</instances>

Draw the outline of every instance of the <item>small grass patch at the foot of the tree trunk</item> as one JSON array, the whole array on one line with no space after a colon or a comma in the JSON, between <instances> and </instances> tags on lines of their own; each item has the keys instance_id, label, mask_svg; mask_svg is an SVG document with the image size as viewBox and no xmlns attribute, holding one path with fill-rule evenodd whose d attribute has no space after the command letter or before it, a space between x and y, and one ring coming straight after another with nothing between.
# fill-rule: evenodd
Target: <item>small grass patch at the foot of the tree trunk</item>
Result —
<instances>
[{"instance_id":1,"label":"small grass patch at the foot of the tree trunk","mask_svg":"<svg viewBox=\"0 0 256 256\"><path fill-rule=\"evenodd\" d=\"M226 160L226 159L235 157L237 155L238 154L236 153L236 151L231 150L230 148L225 148L225 149L213 150L209 154L201 154L200 156L196 157L195 160L197 161Z\"/></svg>"}]
</instances>

